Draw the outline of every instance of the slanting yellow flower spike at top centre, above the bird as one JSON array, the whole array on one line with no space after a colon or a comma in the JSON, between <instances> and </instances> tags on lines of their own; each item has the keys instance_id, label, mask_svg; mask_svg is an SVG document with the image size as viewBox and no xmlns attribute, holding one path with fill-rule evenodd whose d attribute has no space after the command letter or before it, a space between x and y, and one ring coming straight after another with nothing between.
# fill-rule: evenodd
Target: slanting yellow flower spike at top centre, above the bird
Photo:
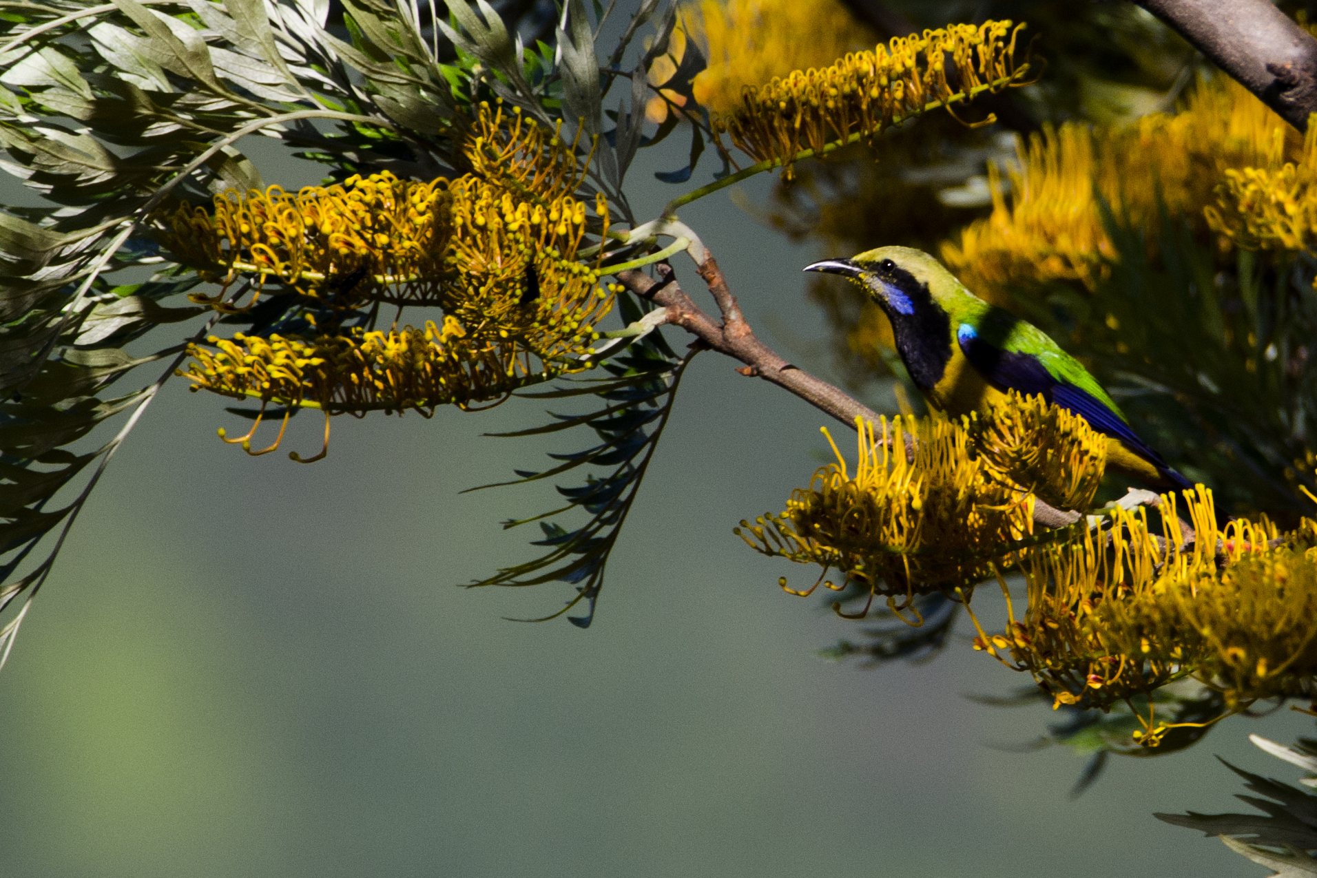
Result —
<instances>
[{"instance_id":1,"label":"slanting yellow flower spike at top centre, above the bird","mask_svg":"<svg viewBox=\"0 0 1317 878\"><path fill-rule=\"evenodd\" d=\"M712 116L714 130L756 162L790 163L806 149L873 136L938 105L1018 83L1029 65L1015 66L1019 25L988 21L947 25L923 36L896 37L890 46L840 58L830 67L795 70ZM947 63L955 68L955 87Z\"/></svg>"}]
</instances>

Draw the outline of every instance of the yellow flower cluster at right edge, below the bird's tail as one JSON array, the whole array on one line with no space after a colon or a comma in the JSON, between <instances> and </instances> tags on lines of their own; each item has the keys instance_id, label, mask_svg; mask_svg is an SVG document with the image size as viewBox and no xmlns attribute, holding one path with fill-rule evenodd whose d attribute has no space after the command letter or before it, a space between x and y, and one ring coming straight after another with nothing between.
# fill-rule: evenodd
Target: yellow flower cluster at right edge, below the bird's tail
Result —
<instances>
[{"instance_id":1,"label":"yellow flower cluster at right edge, below the bird's tail","mask_svg":"<svg viewBox=\"0 0 1317 878\"><path fill-rule=\"evenodd\" d=\"M1191 549L1173 515L1160 533L1146 507L1110 512L1109 529L1025 549L1025 619L976 649L1026 670L1055 704L1108 707L1193 678L1229 712L1275 696L1312 698L1317 674L1317 525L1280 538L1266 520L1217 527L1212 492L1185 492ZM1164 496L1164 509L1175 509ZM1005 586L1004 586L1005 587ZM976 623L977 624L977 623ZM1144 719L1155 745L1175 725Z\"/></svg>"}]
</instances>

